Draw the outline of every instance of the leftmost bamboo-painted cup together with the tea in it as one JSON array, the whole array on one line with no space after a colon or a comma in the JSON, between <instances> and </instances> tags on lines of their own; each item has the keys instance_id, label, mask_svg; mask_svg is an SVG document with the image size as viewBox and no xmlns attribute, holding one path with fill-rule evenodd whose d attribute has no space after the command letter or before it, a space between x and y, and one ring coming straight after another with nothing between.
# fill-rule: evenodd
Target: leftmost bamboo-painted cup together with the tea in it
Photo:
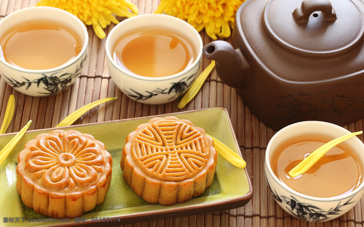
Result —
<instances>
[{"instance_id":1,"label":"leftmost bamboo-painted cup together with the tea in it","mask_svg":"<svg viewBox=\"0 0 364 227\"><path fill-rule=\"evenodd\" d=\"M4 17L0 21L0 28L0 75L18 92L29 96L52 96L69 88L79 77L86 60L88 33L76 16L54 7L29 7ZM60 36L63 33L55 35L58 41L48 38L50 33L40 35L38 32L42 29L52 32L61 29L68 38L74 39L73 43L66 42L66 36ZM39 42L39 37L43 38L43 43ZM20 41L21 38L26 41L26 45ZM44 40L52 40L47 42L52 48L44 48ZM21 45L29 49L19 50ZM35 46L35 49L31 49ZM63 52L64 46L74 51L67 53L67 58L61 58L63 53L57 52L57 49ZM47 64L50 68L47 68Z\"/></svg>"}]
</instances>

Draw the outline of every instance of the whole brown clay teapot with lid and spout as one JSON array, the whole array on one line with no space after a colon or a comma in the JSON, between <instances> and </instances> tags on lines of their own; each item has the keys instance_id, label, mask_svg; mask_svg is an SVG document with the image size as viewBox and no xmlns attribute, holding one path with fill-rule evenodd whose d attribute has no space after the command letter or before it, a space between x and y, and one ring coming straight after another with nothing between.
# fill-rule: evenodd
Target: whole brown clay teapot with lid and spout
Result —
<instances>
[{"instance_id":1,"label":"whole brown clay teapot with lid and spout","mask_svg":"<svg viewBox=\"0 0 364 227\"><path fill-rule=\"evenodd\" d=\"M363 10L361 0L247 0L232 45L214 41L203 54L274 130L346 125L364 118Z\"/></svg>"}]
</instances>

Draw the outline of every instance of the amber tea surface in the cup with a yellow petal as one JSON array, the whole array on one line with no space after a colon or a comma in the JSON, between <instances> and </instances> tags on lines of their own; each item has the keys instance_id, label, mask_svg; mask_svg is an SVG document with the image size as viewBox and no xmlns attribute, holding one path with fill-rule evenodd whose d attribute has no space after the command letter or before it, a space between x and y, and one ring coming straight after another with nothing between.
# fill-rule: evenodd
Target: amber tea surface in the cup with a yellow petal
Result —
<instances>
[{"instance_id":1,"label":"amber tea surface in the cup with a yellow petal","mask_svg":"<svg viewBox=\"0 0 364 227\"><path fill-rule=\"evenodd\" d=\"M304 174L289 177L288 172L293 167L328 141L291 141L281 145L271 160L273 173L288 187L304 195L329 198L353 191L362 181L362 169L350 150L338 146L330 149Z\"/></svg>"}]
</instances>

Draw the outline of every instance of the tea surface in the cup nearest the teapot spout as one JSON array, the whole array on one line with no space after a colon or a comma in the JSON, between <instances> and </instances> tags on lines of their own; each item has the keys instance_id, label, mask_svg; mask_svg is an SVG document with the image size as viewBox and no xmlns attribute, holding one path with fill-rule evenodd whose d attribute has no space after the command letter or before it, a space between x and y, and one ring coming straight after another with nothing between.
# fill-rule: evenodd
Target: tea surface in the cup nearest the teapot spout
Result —
<instances>
[{"instance_id":1,"label":"tea surface in the cup nearest the teapot spout","mask_svg":"<svg viewBox=\"0 0 364 227\"><path fill-rule=\"evenodd\" d=\"M145 77L165 77L186 69L194 62L195 53L185 38L156 29L121 37L113 58L128 72Z\"/></svg>"}]
</instances>

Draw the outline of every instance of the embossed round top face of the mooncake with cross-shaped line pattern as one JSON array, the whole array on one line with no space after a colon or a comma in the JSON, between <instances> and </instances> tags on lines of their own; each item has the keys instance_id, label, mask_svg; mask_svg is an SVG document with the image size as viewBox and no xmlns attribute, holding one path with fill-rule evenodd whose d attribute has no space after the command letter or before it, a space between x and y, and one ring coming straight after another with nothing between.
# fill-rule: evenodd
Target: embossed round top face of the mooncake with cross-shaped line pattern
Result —
<instances>
[{"instance_id":1,"label":"embossed round top face of the mooncake with cross-shaped line pattern","mask_svg":"<svg viewBox=\"0 0 364 227\"><path fill-rule=\"evenodd\" d=\"M131 154L139 169L156 179L182 181L206 165L210 149L206 138L187 123L165 120L141 130Z\"/></svg>"}]
</instances>

